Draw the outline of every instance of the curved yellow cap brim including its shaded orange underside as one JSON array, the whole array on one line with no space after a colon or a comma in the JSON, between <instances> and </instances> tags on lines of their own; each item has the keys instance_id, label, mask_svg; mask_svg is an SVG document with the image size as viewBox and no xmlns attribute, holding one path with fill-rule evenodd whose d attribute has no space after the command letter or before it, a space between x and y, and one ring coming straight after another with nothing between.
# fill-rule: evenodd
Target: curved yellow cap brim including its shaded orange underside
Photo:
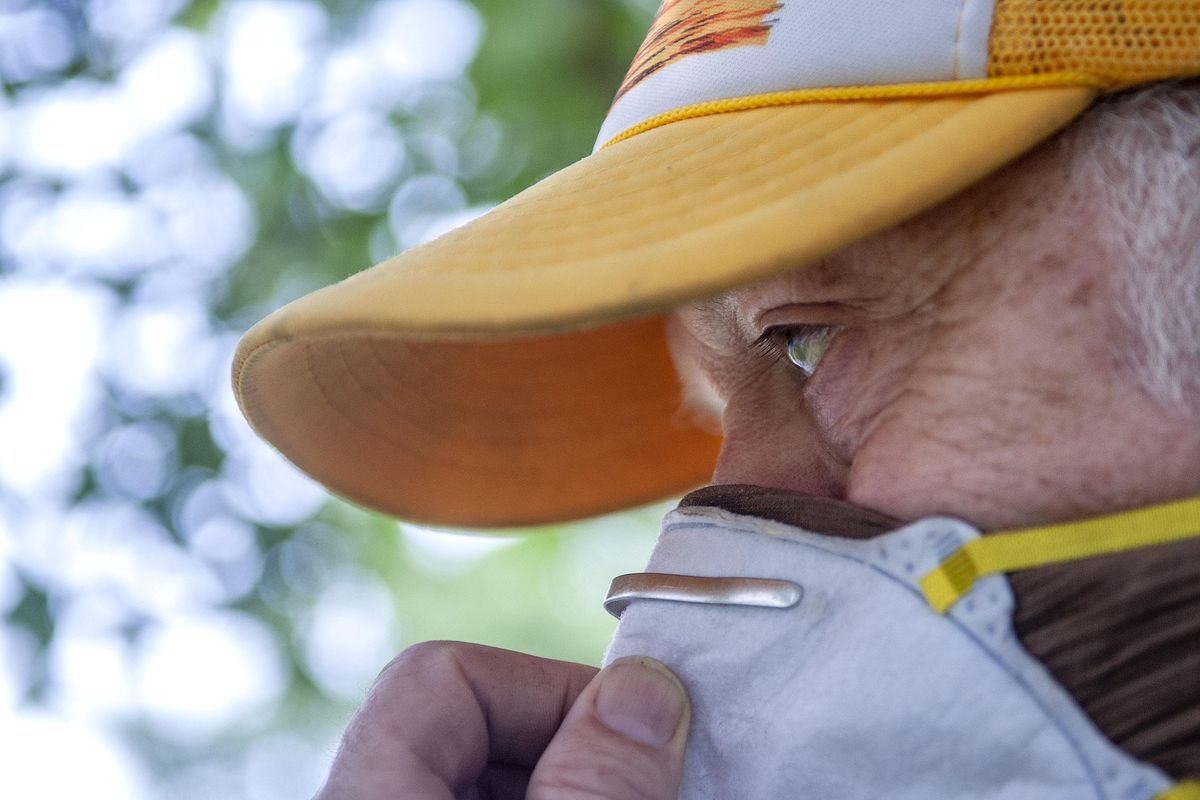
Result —
<instances>
[{"instance_id":1,"label":"curved yellow cap brim including its shaded orange underside","mask_svg":"<svg viewBox=\"0 0 1200 800\"><path fill-rule=\"evenodd\" d=\"M234 385L335 492L467 527L703 482L661 318L906 219L1082 112L1091 88L809 103L673 122L254 326Z\"/></svg>"}]
</instances>

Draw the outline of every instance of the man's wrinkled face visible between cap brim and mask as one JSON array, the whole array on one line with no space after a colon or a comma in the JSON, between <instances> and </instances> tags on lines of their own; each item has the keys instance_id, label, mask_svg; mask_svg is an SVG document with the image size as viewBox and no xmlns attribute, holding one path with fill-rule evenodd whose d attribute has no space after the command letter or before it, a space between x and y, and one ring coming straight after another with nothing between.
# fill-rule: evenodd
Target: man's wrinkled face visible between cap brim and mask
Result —
<instances>
[{"instance_id":1,"label":"man's wrinkled face visible between cap brim and mask","mask_svg":"<svg viewBox=\"0 0 1200 800\"><path fill-rule=\"evenodd\" d=\"M1130 267L1063 152L678 311L688 395L708 398L725 434L714 481L984 528L1187 493L1200 446L1128 374L1116 297ZM821 326L840 331L806 377L787 338Z\"/></svg>"}]
</instances>

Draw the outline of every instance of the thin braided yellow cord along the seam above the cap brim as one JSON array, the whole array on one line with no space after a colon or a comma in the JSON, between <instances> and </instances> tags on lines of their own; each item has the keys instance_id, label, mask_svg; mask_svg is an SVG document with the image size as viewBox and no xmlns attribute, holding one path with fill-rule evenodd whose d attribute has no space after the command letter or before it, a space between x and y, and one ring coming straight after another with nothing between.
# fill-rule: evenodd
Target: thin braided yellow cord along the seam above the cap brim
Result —
<instances>
[{"instance_id":1,"label":"thin braided yellow cord along the seam above the cap brim","mask_svg":"<svg viewBox=\"0 0 1200 800\"><path fill-rule=\"evenodd\" d=\"M756 108L775 108L780 106L800 106L803 103L830 103L858 100L905 100L916 97L946 97L953 95L983 95L1010 89L1040 89L1044 86L1093 86L1109 90L1116 84L1100 76L1087 72L1056 72L1038 76L1013 76L1009 78L974 78L971 80L940 80L930 83L888 84L884 86L824 86L821 89L793 89L773 91L763 95L745 95L727 100L710 100L703 103L684 106L626 128L612 137L600 148L610 148L618 142L646 133L671 122L689 120L697 116L713 116L731 112L746 112Z\"/></svg>"}]
</instances>

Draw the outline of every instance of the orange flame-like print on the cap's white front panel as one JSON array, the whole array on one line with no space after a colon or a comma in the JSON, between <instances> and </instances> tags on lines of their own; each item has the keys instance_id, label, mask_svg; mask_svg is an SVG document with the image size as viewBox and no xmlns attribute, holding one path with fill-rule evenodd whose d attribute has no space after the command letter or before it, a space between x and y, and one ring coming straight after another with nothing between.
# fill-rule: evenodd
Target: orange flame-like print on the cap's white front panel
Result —
<instances>
[{"instance_id":1,"label":"orange flame-like print on the cap's white front panel","mask_svg":"<svg viewBox=\"0 0 1200 800\"><path fill-rule=\"evenodd\" d=\"M689 55L763 46L782 2L766 0L662 0L650 30L617 90L622 96L662 67Z\"/></svg>"}]
</instances>

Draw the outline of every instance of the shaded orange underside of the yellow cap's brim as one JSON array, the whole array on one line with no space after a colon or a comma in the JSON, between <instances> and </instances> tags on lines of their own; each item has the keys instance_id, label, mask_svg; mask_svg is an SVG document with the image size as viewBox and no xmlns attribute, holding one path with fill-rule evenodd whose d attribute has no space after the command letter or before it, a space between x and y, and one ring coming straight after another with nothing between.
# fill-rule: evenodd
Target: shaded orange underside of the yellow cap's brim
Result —
<instances>
[{"instance_id":1,"label":"shaded orange underside of the yellow cap's brim","mask_svg":"<svg viewBox=\"0 0 1200 800\"><path fill-rule=\"evenodd\" d=\"M468 528L589 517L712 473L660 318L574 336L414 342L376 332L250 356L247 415L334 492ZM278 427L275 427L278 425Z\"/></svg>"}]
</instances>

